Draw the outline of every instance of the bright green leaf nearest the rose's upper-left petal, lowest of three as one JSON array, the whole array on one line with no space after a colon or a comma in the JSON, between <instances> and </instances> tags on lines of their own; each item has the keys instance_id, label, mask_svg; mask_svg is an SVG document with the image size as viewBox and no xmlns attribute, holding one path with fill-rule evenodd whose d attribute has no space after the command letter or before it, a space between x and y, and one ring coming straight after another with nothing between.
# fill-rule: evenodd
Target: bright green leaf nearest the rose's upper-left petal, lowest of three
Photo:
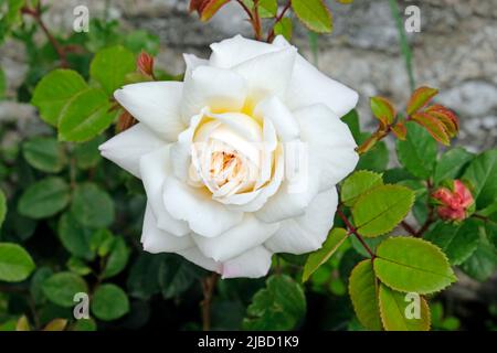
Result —
<instances>
[{"instance_id":1,"label":"bright green leaf nearest the rose's upper-left petal, lowest of three","mask_svg":"<svg viewBox=\"0 0 497 353\"><path fill-rule=\"evenodd\" d=\"M61 113L59 139L84 142L108 128L116 111L110 111L106 94L99 88L81 92Z\"/></svg>"}]
</instances>

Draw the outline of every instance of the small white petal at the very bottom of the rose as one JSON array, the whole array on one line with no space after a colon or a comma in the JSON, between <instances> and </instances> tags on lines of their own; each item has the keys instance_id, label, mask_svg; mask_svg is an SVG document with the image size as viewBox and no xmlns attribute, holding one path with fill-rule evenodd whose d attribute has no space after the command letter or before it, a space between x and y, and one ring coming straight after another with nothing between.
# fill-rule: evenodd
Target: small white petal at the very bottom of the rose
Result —
<instances>
[{"instance_id":1,"label":"small white petal at the very bottom of the rose","mask_svg":"<svg viewBox=\"0 0 497 353\"><path fill-rule=\"evenodd\" d=\"M258 278L267 275L273 254L264 246L257 246L243 253L222 266L222 278Z\"/></svg>"}]
</instances>

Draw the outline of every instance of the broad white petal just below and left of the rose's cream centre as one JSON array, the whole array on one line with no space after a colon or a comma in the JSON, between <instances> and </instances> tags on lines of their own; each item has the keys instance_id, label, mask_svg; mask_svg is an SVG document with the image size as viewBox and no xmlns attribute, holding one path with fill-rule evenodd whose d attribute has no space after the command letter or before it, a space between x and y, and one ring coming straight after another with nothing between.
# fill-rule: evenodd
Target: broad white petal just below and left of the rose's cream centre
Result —
<instances>
[{"instance_id":1,"label":"broad white petal just below and left of the rose's cream centre","mask_svg":"<svg viewBox=\"0 0 497 353\"><path fill-rule=\"evenodd\" d=\"M221 235L243 220L242 212L228 210L205 190L191 188L175 176L167 178L162 196L172 217L187 221L190 229L199 235Z\"/></svg>"}]
</instances>

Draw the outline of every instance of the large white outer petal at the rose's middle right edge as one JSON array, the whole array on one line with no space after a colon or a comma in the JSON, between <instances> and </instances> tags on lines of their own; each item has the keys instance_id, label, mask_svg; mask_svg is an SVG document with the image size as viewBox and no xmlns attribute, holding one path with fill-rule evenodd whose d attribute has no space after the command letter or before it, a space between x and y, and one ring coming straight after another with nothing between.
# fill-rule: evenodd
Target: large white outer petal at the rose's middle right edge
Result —
<instances>
[{"instance_id":1,"label":"large white outer petal at the rose's middle right edge","mask_svg":"<svg viewBox=\"0 0 497 353\"><path fill-rule=\"evenodd\" d=\"M347 125L327 106L315 105L294 111L303 141L309 146L310 170L319 170L319 191L328 190L356 168L359 156Z\"/></svg>"}]
</instances>

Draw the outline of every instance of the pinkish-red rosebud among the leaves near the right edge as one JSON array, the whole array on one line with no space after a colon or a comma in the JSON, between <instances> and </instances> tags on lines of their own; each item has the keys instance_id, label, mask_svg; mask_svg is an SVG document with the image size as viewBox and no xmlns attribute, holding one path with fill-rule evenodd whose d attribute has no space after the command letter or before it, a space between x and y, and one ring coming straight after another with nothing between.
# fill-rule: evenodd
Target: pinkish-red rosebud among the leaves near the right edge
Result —
<instances>
[{"instance_id":1,"label":"pinkish-red rosebud among the leaves near the right edge","mask_svg":"<svg viewBox=\"0 0 497 353\"><path fill-rule=\"evenodd\" d=\"M440 188L432 197L437 201L437 213L442 220L463 221L467 217L467 210L475 201L472 193L461 180L454 181L454 190Z\"/></svg>"}]
</instances>

